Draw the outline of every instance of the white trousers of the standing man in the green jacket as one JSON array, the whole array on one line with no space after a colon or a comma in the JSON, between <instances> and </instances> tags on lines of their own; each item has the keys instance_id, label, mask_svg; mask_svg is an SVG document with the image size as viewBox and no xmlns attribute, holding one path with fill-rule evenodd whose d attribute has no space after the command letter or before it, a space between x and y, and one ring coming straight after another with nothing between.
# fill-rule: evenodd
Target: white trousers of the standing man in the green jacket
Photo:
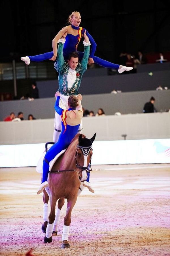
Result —
<instances>
[{"instance_id":1,"label":"white trousers of the standing man in the green jacket","mask_svg":"<svg viewBox=\"0 0 170 256\"><path fill-rule=\"evenodd\" d=\"M77 96L76 96L77 97ZM68 106L68 98L69 96L60 94L60 99L59 99L59 107L66 110L69 108ZM57 142L59 135L61 133L61 116L55 112L55 117L54 117L54 133L53 133L53 141ZM80 126L78 128L78 133L81 133L82 131L82 121L80 123Z\"/></svg>"}]
</instances>

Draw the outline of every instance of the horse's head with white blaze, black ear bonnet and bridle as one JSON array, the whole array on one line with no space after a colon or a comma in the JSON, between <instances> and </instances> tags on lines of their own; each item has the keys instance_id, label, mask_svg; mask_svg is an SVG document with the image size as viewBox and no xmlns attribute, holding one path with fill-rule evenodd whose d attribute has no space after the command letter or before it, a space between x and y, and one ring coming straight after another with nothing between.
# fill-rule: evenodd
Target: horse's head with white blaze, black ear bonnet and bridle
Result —
<instances>
[{"instance_id":1,"label":"horse's head with white blaze, black ear bonnet and bridle","mask_svg":"<svg viewBox=\"0 0 170 256\"><path fill-rule=\"evenodd\" d=\"M76 168L80 170L79 179L84 181L87 179L87 171L90 168L90 162L92 157L92 143L95 140L96 133L91 139L82 137L82 134L78 137L78 145L76 150Z\"/></svg>"}]
</instances>

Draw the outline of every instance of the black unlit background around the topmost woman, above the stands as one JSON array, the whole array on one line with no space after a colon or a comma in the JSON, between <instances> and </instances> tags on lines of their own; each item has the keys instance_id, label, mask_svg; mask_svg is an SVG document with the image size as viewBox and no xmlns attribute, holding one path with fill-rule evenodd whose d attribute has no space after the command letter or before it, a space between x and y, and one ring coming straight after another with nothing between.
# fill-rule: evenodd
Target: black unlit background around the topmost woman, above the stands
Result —
<instances>
[{"instance_id":1,"label":"black unlit background around the topmost woman, above the stands","mask_svg":"<svg viewBox=\"0 0 170 256\"><path fill-rule=\"evenodd\" d=\"M169 1L161 0L145 4L125 0L1 0L1 59L51 51L52 39L75 10L81 13L81 26L94 37L95 55L101 58L116 62L122 51L170 51L169 7Z\"/></svg>"}]
</instances>

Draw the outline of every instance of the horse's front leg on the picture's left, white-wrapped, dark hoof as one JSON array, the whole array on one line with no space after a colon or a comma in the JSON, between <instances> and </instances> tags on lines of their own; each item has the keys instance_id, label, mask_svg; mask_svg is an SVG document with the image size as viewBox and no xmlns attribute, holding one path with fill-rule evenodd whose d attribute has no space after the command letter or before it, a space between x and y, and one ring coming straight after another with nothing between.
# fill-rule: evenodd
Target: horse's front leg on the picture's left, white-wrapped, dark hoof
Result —
<instances>
[{"instance_id":1,"label":"horse's front leg on the picture's left, white-wrapped, dark hoof","mask_svg":"<svg viewBox=\"0 0 170 256\"><path fill-rule=\"evenodd\" d=\"M50 214L48 216L48 224L46 228L46 235L44 237L44 243L51 243L52 242L52 231L54 226L54 220L55 220L55 208L56 208L56 202L57 202L56 196L50 195Z\"/></svg>"}]
</instances>

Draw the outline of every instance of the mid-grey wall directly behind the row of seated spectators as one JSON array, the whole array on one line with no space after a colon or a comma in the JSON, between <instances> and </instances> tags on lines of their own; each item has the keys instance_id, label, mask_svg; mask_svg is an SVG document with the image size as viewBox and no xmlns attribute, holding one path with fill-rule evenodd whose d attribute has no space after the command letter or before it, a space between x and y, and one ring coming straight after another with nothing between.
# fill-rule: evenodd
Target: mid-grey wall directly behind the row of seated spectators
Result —
<instances>
[{"instance_id":1,"label":"mid-grey wall directly behind the row of seated spectators","mask_svg":"<svg viewBox=\"0 0 170 256\"><path fill-rule=\"evenodd\" d=\"M46 85L46 88L48 88L48 85ZM85 109L93 110L95 113L97 113L98 108L103 108L106 115L113 115L115 112L122 114L142 113L144 104L150 100L151 96L156 99L154 106L158 112L170 109L170 90L83 95L82 106ZM54 118L55 100L54 97L33 101L12 100L0 102L0 120L3 121L10 112L17 115L19 111L24 113L25 119L29 114L33 114L37 119Z\"/></svg>"}]
</instances>

